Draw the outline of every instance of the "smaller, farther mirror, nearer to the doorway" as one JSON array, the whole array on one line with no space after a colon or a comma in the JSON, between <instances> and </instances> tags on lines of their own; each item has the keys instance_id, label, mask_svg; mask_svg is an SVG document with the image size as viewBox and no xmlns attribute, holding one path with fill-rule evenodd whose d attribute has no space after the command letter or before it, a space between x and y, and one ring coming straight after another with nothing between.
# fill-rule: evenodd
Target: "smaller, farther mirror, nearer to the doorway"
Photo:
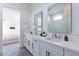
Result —
<instances>
[{"instance_id":1,"label":"smaller, farther mirror, nearer to the doorway","mask_svg":"<svg viewBox=\"0 0 79 59\"><path fill-rule=\"evenodd\" d=\"M43 31L43 13L38 12L34 15L34 31L39 34Z\"/></svg>"}]
</instances>

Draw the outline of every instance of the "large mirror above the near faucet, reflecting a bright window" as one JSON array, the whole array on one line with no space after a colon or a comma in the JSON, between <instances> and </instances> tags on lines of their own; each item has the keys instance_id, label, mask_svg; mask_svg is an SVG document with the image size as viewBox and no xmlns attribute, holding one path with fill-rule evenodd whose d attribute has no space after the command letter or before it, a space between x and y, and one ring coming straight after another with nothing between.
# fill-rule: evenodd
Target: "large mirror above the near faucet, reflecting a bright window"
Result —
<instances>
[{"instance_id":1,"label":"large mirror above the near faucet, reflecting a bright window","mask_svg":"<svg viewBox=\"0 0 79 59\"><path fill-rule=\"evenodd\" d=\"M71 3L56 3L48 8L48 32L71 33Z\"/></svg>"}]
</instances>

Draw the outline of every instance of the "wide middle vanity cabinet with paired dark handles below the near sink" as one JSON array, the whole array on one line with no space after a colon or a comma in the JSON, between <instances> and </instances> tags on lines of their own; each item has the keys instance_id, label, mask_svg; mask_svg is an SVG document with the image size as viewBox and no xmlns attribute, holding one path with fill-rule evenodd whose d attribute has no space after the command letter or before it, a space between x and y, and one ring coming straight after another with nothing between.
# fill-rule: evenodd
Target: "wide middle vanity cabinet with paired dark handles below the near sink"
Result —
<instances>
[{"instance_id":1,"label":"wide middle vanity cabinet with paired dark handles below the near sink","mask_svg":"<svg viewBox=\"0 0 79 59\"><path fill-rule=\"evenodd\" d=\"M63 56L63 48L57 45L40 41L40 56Z\"/></svg>"}]
</instances>

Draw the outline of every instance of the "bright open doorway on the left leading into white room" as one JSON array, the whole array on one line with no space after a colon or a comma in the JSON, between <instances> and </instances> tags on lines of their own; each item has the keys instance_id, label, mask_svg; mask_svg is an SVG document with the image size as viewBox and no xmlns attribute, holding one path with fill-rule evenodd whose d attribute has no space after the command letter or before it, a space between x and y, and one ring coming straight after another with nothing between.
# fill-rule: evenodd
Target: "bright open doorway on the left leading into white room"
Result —
<instances>
[{"instance_id":1,"label":"bright open doorway on the left leading into white room","mask_svg":"<svg viewBox=\"0 0 79 59\"><path fill-rule=\"evenodd\" d=\"M3 7L3 51L10 50L10 46L20 47L20 12Z\"/></svg>"}]
</instances>

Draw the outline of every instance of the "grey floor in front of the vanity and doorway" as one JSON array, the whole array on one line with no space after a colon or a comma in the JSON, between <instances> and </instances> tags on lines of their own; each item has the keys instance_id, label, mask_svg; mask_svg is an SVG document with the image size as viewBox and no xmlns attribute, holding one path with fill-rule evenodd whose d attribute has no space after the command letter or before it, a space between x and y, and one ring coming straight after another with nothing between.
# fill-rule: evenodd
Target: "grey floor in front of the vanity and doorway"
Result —
<instances>
[{"instance_id":1,"label":"grey floor in front of the vanity and doorway","mask_svg":"<svg viewBox=\"0 0 79 59\"><path fill-rule=\"evenodd\" d=\"M32 56L32 54L25 48L19 47L19 43L3 46L3 56Z\"/></svg>"}]
</instances>

